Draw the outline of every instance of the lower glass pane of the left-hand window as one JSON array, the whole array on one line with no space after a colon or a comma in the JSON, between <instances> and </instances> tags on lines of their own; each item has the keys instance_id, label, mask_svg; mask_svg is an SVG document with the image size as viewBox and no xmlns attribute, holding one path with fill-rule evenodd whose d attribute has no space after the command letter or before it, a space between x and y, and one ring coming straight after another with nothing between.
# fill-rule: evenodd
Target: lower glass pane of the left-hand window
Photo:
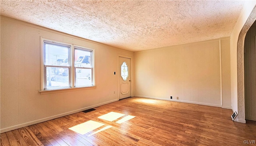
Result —
<instances>
[{"instance_id":1,"label":"lower glass pane of the left-hand window","mask_svg":"<svg viewBox=\"0 0 256 146\"><path fill-rule=\"evenodd\" d=\"M46 88L69 87L69 68L46 67Z\"/></svg>"}]
</instances>

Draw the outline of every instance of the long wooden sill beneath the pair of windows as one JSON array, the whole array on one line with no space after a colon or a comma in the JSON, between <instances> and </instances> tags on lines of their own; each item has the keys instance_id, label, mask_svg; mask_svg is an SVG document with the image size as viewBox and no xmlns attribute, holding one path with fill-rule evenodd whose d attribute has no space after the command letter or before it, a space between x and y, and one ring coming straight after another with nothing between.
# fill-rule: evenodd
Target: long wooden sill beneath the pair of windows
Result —
<instances>
[{"instance_id":1,"label":"long wooden sill beneath the pair of windows","mask_svg":"<svg viewBox=\"0 0 256 146\"><path fill-rule=\"evenodd\" d=\"M76 88L56 89L56 90L43 90L39 92L40 92L40 95L44 95L44 94L53 94L53 93L62 93L62 92L89 90L89 89L96 89L96 86L76 87Z\"/></svg>"}]
</instances>

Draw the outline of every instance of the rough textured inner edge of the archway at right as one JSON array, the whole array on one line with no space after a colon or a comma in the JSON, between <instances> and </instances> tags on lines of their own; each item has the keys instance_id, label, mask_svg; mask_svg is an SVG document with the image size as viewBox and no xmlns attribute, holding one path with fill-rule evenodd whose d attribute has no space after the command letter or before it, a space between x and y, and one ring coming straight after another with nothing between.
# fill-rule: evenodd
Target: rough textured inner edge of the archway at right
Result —
<instances>
[{"instance_id":1,"label":"rough textured inner edge of the archway at right","mask_svg":"<svg viewBox=\"0 0 256 146\"><path fill-rule=\"evenodd\" d=\"M242 28L237 43L237 84L238 84L238 121L245 119L244 108L244 39L247 31L256 20L256 7L252 10L244 27Z\"/></svg>"}]
</instances>

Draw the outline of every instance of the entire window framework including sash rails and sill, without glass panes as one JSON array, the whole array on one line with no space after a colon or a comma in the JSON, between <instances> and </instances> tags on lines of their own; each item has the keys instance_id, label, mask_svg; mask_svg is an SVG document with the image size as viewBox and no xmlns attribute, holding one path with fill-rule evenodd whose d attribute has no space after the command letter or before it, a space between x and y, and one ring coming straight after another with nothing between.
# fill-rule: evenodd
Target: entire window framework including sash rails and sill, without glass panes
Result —
<instances>
[{"instance_id":1,"label":"entire window framework including sash rails and sill, without glass panes","mask_svg":"<svg viewBox=\"0 0 256 146\"><path fill-rule=\"evenodd\" d=\"M54 44L54 45L62 45L62 46L66 46L66 47L70 47L70 51L69 51L69 65L70 66L49 66L49 65L45 65L44 61L45 61L45 50L44 50L44 42L46 43L50 43L50 44ZM95 49L89 48L89 47L84 47L82 45L74 45L72 43L67 43L67 42L62 42L62 41L58 41L58 40L54 40L54 39L47 39L44 37L41 37L41 87L40 87L40 94L48 94L48 93L60 93L63 91L76 91L76 90L85 90L85 89L95 89L96 85L95 85L95 74L94 74L94 62L95 62ZM75 56L74 56L74 50L75 49L81 49L81 50L85 50L85 51L90 51L91 52L91 68L92 69L92 74L91 74L91 80L92 80L92 85L91 86L75 86L75 66L74 66L74 62L75 62ZM65 88L46 88L46 67L65 67L65 68L70 68L69 69L69 87L65 87ZM76 67L77 68L77 67Z\"/></svg>"}]
</instances>

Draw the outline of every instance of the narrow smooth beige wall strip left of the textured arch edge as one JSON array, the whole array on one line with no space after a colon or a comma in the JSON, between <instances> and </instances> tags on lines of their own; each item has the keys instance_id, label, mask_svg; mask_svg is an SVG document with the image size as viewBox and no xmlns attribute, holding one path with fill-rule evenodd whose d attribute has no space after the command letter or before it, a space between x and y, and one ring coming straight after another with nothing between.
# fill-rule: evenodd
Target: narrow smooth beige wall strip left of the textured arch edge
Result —
<instances>
[{"instance_id":1,"label":"narrow smooth beige wall strip left of the textured arch edge","mask_svg":"<svg viewBox=\"0 0 256 146\"><path fill-rule=\"evenodd\" d=\"M250 16L256 1L247 1L242 9L236 25L230 35L230 72L231 72L231 101L232 110L238 113L238 82L237 82L237 43L240 31ZM239 113L238 113L239 114ZM238 121L236 118L235 121Z\"/></svg>"}]
</instances>

